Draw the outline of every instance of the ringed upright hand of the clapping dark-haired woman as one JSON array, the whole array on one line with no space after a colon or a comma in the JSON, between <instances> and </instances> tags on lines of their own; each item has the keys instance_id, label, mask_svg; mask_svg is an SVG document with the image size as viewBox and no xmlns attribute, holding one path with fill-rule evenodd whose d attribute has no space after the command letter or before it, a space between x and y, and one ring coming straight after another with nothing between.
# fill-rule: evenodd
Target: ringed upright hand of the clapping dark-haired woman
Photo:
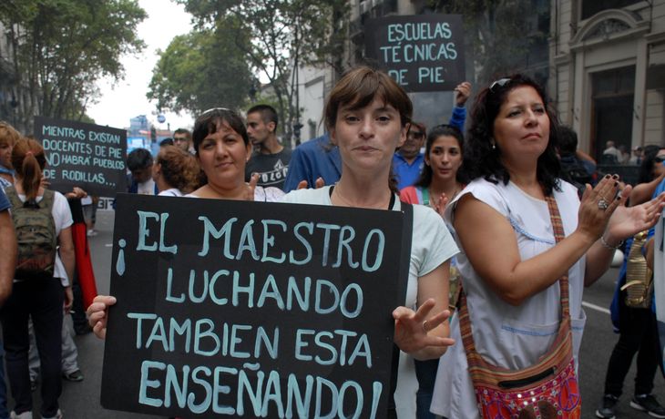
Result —
<instances>
[{"instance_id":1,"label":"ringed upright hand of the clapping dark-haired woman","mask_svg":"<svg viewBox=\"0 0 665 419\"><path fill-rule=\"evenodd\" d=\"M579 203L578 231L588 237L590 242L600 238L614 210L629 197L629 190L617 195L618 191L619 177L617 175L606 175L593 189L587 184L587 189ZM607 206L606 209L602 208L603 204Z\"/></svg>"}]
</instances>

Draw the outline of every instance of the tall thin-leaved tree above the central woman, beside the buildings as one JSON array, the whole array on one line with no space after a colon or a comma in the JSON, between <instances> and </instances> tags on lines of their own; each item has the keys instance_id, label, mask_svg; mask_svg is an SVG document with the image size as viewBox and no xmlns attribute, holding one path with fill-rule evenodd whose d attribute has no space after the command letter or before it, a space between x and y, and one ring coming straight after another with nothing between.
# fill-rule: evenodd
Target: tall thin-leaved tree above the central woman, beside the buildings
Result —
<instances>
[{"instance_id":1,"label":"tall thin-leaved tree above the central woman, beside the buildings","mask_svg":"<svg viewBox=\"0 0 665 419\"><path fill-rule=\"evenodd\" d=\"M200 27L219 28L231 17L235 19L234 29L251 40L238 46L252 69L270 81L287 138L298 114L295 66L329 64L342 70L348 20L345 0L178 1Z\"/></svg>"}]
</instances>

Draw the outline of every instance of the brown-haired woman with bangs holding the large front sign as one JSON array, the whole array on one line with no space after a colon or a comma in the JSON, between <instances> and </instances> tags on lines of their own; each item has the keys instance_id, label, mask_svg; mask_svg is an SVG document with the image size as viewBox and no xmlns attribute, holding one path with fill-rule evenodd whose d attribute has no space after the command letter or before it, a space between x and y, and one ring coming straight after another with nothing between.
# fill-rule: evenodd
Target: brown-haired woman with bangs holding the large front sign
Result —
<instances>
[{"instance_id":1,"label":"brown-haired woman with bangs holding the large front sign","mask_svg":"<svg viewBox=\"0 0 665 419\"><path fill-rule=\"evenodd\" d=\"M402 87L386 74L368 67L347 73L324 110L331 141L340 149L342 177L334 186L292 191L283 200L400 210L391 162L406 138L412 109ZM453 344L447 322L448 261L456 252L441 217L415 205L406 300L393 312L394 342L402 350L394 393L399 418L415 418L414 358L438 358Z\"/></svg>"}]
</instances>

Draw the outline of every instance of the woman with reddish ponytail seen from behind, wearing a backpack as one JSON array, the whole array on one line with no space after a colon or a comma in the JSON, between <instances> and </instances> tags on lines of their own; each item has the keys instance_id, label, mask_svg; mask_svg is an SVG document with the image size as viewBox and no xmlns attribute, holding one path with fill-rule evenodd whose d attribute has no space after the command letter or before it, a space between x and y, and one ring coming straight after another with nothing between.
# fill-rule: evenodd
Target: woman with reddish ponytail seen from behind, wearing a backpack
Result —
<instances>
[{"instance_id":1,"label":"woman with reddish ponytail seen from behind, wearing a backpack","mask_svg":"<svg viewBox=\"0 0 665 419\"><path fill-rule=\"evenodd\" d=\"M46 167L44 148L34 139L21 138L12 150L16 170L14 188L24 202L40 201L42 171ZM55 192L51 210L55 221L59 254L68 278L75 269L72 215L67 199ZM16 417L32 413L32 394L28 374L28 317L35 325L42 373L41 415L45 419L61 416L57 399L62 391L60 356L63 306L72 303L71 287L64 287L56 278L50 280L15 281L14 290L2 312L6 365ZM30 416L31 417L31 416Z\"/></svg>"}]
</instances>

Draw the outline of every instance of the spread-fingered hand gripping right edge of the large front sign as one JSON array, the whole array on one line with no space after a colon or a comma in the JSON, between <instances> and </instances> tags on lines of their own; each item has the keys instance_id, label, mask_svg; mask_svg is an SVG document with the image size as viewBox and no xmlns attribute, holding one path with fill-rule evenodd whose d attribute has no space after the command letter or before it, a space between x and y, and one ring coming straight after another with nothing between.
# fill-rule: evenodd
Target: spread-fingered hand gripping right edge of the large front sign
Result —
<instances>
[{"instance_id":1,"label":"spread-fingered hand gripping right edge of the large front sign","mask_svg":"<svg viewBox=\"0 0 665 419\"><path fill-rule=\"evenodd\" d=\"M394 309L394 342L405 353L415 353L427 346L445 347L455 343L454 339L428 334L450 317L448 310L430 316L434 306L435 300L430 298L416 312L406 307Z\"/></svg>"}]
</instances>

